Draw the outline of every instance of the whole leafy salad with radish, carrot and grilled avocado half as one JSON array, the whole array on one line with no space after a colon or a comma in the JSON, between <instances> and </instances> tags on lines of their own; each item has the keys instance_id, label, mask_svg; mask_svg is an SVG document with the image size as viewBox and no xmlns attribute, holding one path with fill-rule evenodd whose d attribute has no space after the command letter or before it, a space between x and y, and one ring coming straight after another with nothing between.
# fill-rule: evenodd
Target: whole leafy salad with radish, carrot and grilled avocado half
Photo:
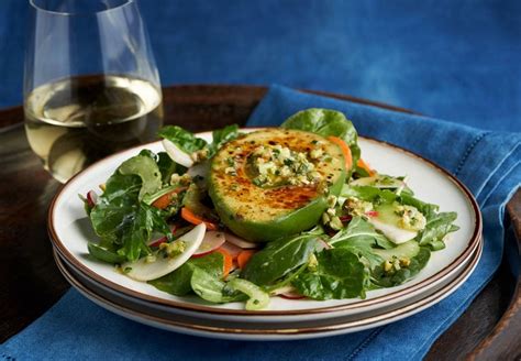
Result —
<instances>
[{"instance_id":1,"label":"whole leafy salad with radish, carrot and grilled avocado half","mask_svg":"<svg viewBox=\"0 0 521 361\"><path fill-rule=\"evenodd\" d=\"M339 111L307 109L279 128L176 125L81 197L95 259L136 281L210 303L268 307L270 297L340 299L400 285L458 229L406 176L361 157Z\"/></svg>"}]
</instances>

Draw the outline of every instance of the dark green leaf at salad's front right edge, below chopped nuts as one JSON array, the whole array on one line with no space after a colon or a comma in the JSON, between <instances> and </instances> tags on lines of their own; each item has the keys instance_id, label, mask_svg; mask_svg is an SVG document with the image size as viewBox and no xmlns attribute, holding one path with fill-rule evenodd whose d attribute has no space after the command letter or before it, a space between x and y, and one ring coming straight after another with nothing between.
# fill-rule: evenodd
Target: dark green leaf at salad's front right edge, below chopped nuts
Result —
<instances>
[{"instance_id":1,"label":"dark green leaf at salad's front right edge, below chopped nuts","mask_svg":"<svg viewBox=\"0 0 521 361\"><path fill-rule=\"evenodd\" d=\"M377 266L372 272L372 282L379 287L393 287L417 275L429 262L431 251L426 247L420 247L417 255L410 259L407 267L400 267L395 272L385 272L384 265Z\"/></svg>"}]
</instances>

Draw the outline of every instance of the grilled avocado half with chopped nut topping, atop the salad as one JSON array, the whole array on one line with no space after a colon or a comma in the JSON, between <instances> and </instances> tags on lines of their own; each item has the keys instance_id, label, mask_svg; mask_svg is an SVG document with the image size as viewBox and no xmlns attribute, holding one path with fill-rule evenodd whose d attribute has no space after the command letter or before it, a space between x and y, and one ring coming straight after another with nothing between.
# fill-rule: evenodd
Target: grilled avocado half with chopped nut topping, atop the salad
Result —
<instances>
[{"instance_id":1,"label":"grilled avocado half with chopped nut topping, atop the salad","mask_svg":"<svg viewBox=\"0 0 521 361\"><path fill-rule=\"evenodd\" d=\"M342 150L328 139L267 128L219 150L209 194L234 233L268 242L317 225L328 197L340 194L347 171Z\"/></svg>"}]
</instances>

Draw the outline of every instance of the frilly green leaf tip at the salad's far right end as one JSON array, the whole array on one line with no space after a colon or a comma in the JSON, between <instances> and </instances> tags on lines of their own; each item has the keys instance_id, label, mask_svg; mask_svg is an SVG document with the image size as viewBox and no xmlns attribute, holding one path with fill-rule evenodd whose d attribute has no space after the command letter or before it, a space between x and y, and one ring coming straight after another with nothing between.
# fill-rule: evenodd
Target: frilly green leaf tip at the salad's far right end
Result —
<instances>
[{"instance_id":1,"label":"frilly green leaf tip at the salad's far right end","mask_svg":"<svg viewBox=\"0 0 521 361\"><path fill-rule=\"evenodd\" d=\"M445 248L443 238L450 232L457 231L459 227L453 225L456 212L431 214L426 217L425 229L418 236L421 245L429 245L433 251Z\"/></svg>"}]
</instances>

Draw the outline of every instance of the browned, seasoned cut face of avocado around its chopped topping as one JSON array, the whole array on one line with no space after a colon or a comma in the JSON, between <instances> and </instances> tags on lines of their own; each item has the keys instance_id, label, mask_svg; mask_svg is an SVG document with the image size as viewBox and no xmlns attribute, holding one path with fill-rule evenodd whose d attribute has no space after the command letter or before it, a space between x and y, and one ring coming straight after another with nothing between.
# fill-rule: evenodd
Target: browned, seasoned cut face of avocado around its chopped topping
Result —
<instances>
[{"instance_id":1,"label":"browned, seasoned cut face of avocado around its chopped topping","mask_svg":"<svg viewBox=\"0 0 521 361\"><path fill-rule=\"evenodd\" d=\"M253 179L258 172L252 169L248 161L251 154L262 145L270 147L280 145L295 153L306 153L308 156L319 145L322 153L328 154L332 160L326 161L322 157L313 160L313 172L317 172L324 182L334 182L341 173L339 171L342 171L343 157L340 150L317 134L269 129L232 141L215 155L211 177L219 197L236 219L269 221L304 207L326 188L321 185L322 182L270 187L255 185ZM232 166L231 160L235 171L233 175L225 171Z\"/></svg>"}]
</instances>

